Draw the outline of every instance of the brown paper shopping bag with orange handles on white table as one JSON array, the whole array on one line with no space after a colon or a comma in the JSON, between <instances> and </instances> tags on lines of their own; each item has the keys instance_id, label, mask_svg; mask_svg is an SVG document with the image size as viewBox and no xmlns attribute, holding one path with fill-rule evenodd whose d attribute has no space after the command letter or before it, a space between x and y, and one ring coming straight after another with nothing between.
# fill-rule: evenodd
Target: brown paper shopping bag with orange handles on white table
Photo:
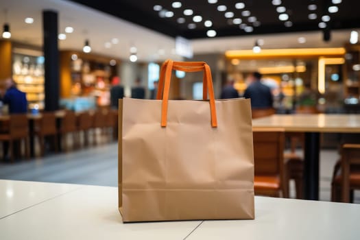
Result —
<instances>
[{"instance_id":1,"label":"brown paper shopping bag with orange handles on white table","mask_svg":"<svg viewBox=\"0 0 360 240\"><path fill-rule=\"evenodd\" d=\"M204 99L169 100L171 71L204 71ZM123 221L254 219L249 99L215 101L204 62L167 60L158 100L119 100Z\"/></svg>"}]
</instances>

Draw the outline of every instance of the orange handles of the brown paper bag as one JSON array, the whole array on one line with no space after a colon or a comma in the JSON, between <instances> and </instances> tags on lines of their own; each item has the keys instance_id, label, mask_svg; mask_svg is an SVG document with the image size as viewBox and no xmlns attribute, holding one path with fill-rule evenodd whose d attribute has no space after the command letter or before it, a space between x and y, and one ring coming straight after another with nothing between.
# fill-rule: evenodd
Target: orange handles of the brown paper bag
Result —
<instances>
[{"instance_id":1,"label":"orange handles of the brown paper bag","mask_svg":"<svg viewBox=\"0 0 360 240\"><path fill-rule=\"evenodd\" d=\"M163 105L161 109L161 126L166 127L167 125L167 106L169 101L169 90L172 70L186 72L204 71L204 77L202 80L202 99L206 100L207 95L209 96L211 126L213 128L217 128L215 95L210 67L208 66L208 64L206 64L206 62L173 62L173 60L166 60L161 66L160 70L160 80L158 84L158 93L156 95L156 99L163 99Z\"/></svg>"}]
</instances>

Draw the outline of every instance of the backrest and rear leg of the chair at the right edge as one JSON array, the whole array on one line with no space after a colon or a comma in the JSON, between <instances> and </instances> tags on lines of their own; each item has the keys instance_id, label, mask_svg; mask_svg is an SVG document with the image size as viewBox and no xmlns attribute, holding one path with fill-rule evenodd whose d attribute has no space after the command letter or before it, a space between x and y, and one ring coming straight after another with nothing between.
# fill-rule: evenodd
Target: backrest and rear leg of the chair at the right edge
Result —
<instances>
[{"instance_id":1,"label":"backrest and rear leg of the chair at the right edge","mask_svg":"<svg viewBox=\"0 0 360 240\"><path fill-rule=\"evenodd\" d=\"M341 149L341 199L350 202L350 166L360 166L360 144L344 144Z\"/></svg>"}]
</instances>

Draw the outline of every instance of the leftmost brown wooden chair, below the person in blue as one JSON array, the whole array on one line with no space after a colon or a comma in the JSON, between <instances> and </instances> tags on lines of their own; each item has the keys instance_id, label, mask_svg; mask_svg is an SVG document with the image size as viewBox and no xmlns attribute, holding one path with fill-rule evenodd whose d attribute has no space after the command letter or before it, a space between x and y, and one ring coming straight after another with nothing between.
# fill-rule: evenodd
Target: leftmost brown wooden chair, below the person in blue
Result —
<instances>
[{"instance_id":1,"label":"leftmost brown wooden chair, below the person in blue","mask_svg":"<svg viewBox=\"0 0 360 240\"><path fill-rule=\"evenodd\" d=\"M10 115L7 132L0 133L0 141L9 143L10 160L14 161L14 141L25 141L25 155L29 157L29 121L27 115Z\"/></svg>"}]
</instances>

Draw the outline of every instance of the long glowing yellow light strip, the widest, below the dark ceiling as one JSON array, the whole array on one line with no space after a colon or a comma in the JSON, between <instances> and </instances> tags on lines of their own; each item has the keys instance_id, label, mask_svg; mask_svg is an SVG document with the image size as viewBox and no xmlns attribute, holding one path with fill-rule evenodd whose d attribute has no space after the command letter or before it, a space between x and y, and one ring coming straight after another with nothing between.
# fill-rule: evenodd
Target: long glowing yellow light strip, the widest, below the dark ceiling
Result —
<instances>
[{"instance_id":1,"label":"long glowing yellow light strip, the widest, below the dark ceiling","mask_svg":"<svg viewBox=\"0 0 360 240\"><path fill-rule=\"evenodd\" d=\"M303 49L261 49L254 53L252 50L230 50L225 52L226 58L259 59L259 58L314 58L344 56L344 47L334 48L303 48Z\"/></svg>"}]
</instances>

